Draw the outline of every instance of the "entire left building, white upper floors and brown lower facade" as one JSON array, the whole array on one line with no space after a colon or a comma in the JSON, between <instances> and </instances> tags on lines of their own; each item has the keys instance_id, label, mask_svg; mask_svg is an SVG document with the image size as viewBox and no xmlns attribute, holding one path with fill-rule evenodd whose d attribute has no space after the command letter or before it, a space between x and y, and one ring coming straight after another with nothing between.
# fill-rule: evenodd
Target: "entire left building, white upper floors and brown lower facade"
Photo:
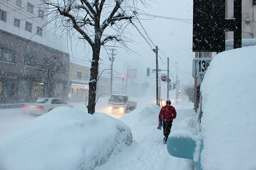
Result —
<instances>
[{"instance_id":1,"label":"entire left building, white upper floors and brown lower facade","mask_svg":"<svg viewBox=\"0 0 256 170\"><path fill-rule=\"evenodd\" d=\"M48 47L48 6L41 0L0 1L0 103L20 103L46 95L46 59L63 62L51 83L53 96L67 100L68 53Z\"/></svg>"}]
</instances>

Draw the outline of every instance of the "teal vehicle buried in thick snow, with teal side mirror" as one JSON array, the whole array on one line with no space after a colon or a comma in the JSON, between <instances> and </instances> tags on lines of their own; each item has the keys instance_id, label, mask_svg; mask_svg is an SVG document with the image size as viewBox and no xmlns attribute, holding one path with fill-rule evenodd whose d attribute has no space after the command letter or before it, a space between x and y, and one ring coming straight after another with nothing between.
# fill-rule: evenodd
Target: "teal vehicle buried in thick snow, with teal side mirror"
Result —
<instances>
[{"instance_id":1,"label":"teal vehicle buried in thick snow, with teal side mirror","mask_svg":"<svg viewBox=\"0 0 256 170\"><path fill-rule=\"evenodd\" d=\"M216 55L201 84L197 134L172 131L170 155L196 170L256 169L256 46Z\"/></svg>"}]
</instances>

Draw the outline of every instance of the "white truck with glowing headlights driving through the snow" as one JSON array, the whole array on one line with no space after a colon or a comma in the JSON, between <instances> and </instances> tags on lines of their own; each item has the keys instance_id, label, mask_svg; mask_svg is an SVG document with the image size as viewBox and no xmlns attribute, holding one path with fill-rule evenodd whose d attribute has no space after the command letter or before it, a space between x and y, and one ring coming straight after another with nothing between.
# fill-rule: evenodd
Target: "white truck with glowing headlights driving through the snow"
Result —
<instances>
[{"instance_id":1,"label":"white truck with glowing headlights driving through the snow","mask_svg":"<svg viewBox=\"0 0 256 170\"><path fill-rule=\"evenodd\" d=\"M132 110L136 109L137 102L136 101L129 101L127 95L121 94L114 94L111 95L110 99L108 100L109 104L109 111L119 112L119 113L128 113Z\"/></svg>"}]
</instances>

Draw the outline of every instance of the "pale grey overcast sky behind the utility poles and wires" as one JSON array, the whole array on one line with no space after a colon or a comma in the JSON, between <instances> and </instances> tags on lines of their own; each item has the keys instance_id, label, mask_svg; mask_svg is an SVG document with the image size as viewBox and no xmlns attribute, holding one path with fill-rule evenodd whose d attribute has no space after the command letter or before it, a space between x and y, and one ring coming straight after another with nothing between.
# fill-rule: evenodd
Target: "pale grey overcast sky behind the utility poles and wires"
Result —
<instances>
[{"instance_id":1,"label":"pale grey overcast sky behind the utility poles and wires","mask_svg":"<svg viewBox=\"0 0 256 170\"><path fill-rule=\"evenodd\" d=\"M133 81L137 83L146 81L150 83L150 87L154 87L156 74L150 73L150 77L146 77L146 70L147 67L150 67L150 70L156 69L156 55L152 48L158 46L159 69L167 70L167 57L169 57L171 82L174 83L176 80L176 63L178 63L178 79L180 79L180 82L185 85L194 84L192 77L192 60L195 57L195 53L192 52L193 1L158 0L157 2L148 1L148 3L150 5L148 8L144 8L143 5L139 4L138 18L140 18L140 23L150 39L139 22L134 21L134 24L148 42L144 40L134 26L128 26L126 36L134 42L127 43L127 45L132 51L127 52L124 48L115 47L116 50L114 52L116 55L113 70L121 76L126 75L127 66L129 65L129 68L137 69L137 79L133 79ZM109 29L106 29L105 33L108 33L108 31ZM111 45L111 43L108 45ZM75 46L73 45L73 47ZM109 49L101 48L100 72L104 69L110 69L111 62L108 56L110 56L111 50ZM92 53L89 53L89 51L91 51L91 48L88 43L85 46L82 44L76 47L75 50L73 48L73 55L70 55L71 62L90 67L91 63L88 58L92 59ZM69 53L71 53L70 50ZM85 58L85 56L88 58ZM110 78L109 72L104 71L102 75ZM167 71L161 71L160 73L167 74ZM114 72L113 77L119 77L119 74ZM115 81L118 82L118 80ZM165 85L164 89L166 89L166 83L162 85Z\"/></svg>"}]
</instances>

